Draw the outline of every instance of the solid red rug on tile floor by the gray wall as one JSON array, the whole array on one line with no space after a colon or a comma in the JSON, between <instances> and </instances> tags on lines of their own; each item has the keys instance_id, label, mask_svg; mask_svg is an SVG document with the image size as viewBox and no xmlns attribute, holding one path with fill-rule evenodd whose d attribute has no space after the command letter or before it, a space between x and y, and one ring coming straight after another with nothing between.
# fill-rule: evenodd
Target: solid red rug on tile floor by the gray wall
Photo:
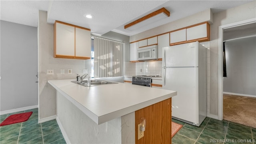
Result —
<instances>
[{"instance_id":1,"label":"solid red rug on tile floor by the gray wall","mask_svg":"<svg viewBox=\"0 0 256 144\"><path fill-rule=\"evenodd\" d=\"M5 126L8 124L15 124L18 122L25 122L28 120L28 118L31 116L33 112L24 112L21 114L13 114L8 116L1 124L0 126Z\"/></svg>"}]
</instances>

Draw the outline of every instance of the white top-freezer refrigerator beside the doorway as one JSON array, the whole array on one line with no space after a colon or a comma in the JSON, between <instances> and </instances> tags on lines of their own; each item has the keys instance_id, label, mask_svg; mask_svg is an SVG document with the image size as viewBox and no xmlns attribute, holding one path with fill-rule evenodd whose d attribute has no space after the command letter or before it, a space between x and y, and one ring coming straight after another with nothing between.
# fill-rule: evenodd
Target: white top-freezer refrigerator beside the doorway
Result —
<instances>
[{"instance_id":1,"label":"white top-freezer refrigerator beside the doorway","mask_svg":"<svg viewBox=\"0 0 256 144\"><path fill-rule=\"evenodd\" d=\"M172 97L172 118L200 126L206 118L206 48L199 42L163 48L162 72Z\"/></svg>"}]
</instances>

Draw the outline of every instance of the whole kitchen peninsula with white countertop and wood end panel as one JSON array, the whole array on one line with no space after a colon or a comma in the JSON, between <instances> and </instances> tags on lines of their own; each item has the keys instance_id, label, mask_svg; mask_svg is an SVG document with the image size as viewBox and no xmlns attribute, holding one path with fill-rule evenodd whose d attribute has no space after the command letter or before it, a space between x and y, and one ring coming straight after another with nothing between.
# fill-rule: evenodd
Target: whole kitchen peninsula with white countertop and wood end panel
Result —
<instances>
[{"instance_id":1,"label":"whole kitchen peninsula with white countertop and wood end panel","mask_svg":"<svg viewBox=\"0 0 256 144\"><path fill-rule=\"evenodd\" d=\"M141 118L146 130L140 140L152 139L154 132L170 140L171 98L177 92L124 83L85 87L71 81L48 80L56 89L56 119L68 143L140 143Z\"/></svg>"}]
</instances>

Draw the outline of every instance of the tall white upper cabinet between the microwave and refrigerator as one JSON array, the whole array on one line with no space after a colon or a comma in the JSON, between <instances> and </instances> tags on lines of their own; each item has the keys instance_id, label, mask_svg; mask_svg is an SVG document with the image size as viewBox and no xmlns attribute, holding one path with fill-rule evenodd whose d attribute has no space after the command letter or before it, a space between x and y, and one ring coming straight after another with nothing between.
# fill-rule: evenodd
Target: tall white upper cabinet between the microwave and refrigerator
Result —
<instances>
[{"instance_id":1,"label":"tall white upper cabinet between the microwave and refrigerator","mask_svg":"<svg viewBox=\"0 0 256 144\"><path fill-rule=\"evenodd\" d=\"M162 58L162 48L170 46L170 34L162 34L158 36L158 59Z\"/></svg>"}]
</instances>

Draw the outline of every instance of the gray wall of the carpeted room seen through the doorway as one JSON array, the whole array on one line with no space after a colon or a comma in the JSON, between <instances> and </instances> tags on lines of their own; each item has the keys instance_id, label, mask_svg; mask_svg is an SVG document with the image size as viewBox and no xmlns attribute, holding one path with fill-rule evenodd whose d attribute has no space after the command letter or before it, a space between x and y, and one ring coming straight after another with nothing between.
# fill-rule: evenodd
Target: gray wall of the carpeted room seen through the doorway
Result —
<instances>
[{"instance_id":1,"label":"gray wall of the carpeted room seen through the doorway","mask_svg":"<svg viewBox=\"0 0 256 144\"><path fill-rule=\"evenodd\" d=\"M256 37L227 41L225 50L223 92L256 96Z\"/></svg>"}]
</instances>

